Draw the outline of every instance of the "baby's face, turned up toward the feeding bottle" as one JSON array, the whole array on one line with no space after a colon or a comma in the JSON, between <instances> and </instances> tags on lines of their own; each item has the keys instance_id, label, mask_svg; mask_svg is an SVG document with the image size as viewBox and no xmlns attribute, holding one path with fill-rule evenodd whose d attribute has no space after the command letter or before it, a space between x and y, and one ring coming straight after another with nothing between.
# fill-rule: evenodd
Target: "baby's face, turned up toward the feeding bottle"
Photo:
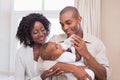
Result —
<instances>
[{"instance_id":1,"label":"baby's face, turned up toward the feeding bottle","mask_svg":"<svg viewBox=\"0 0 120 80\"><path fill-rule=\"evenodd\" d=\"M57 59L63 53L62 47L59 44L50 42L48 44L48 48L51 56L53 56L54 59Z\"/></svg>"}]
</instances>

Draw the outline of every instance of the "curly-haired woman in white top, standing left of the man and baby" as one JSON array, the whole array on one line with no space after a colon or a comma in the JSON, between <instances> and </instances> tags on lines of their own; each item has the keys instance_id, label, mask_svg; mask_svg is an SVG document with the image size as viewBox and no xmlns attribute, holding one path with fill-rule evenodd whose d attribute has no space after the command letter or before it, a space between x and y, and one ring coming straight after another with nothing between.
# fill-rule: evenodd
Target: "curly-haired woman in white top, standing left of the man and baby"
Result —
<instances>
[{"instance_id":1,"label":"curly-haired woman in white top, standing left of the man and baby","mask_svg":"<svg viewBox=\"0 0 120 80\"><path fill-rule=\"evenodd\" d=\"M23 46L16 54L16 80L41 80L41 73L37 70L39 50L49 34L50 22L39 13L32 13L22 18L16 37ZM57 71L57 69L56 69ZM56 71L43 74L51 76Z\"/></svg>"}]
</instances>

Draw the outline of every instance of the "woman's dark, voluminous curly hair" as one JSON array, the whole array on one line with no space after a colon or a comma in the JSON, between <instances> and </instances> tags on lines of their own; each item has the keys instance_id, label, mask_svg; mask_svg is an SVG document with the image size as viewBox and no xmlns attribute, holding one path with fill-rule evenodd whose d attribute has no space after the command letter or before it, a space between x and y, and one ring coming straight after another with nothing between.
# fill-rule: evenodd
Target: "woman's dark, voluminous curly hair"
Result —
<instances>
[{"instance_id":1,"label":"woman's dark, voluminous curly hair","mask_svg":"<svg viewBox=\"0 0 120 80\"><path fill-rule=\"evenodd\" d=\"M36 21L39 21L43 24L46 30L46 36L49 34L50 22L49 20L39 13L31 13L22 18L20 24L18 26L16 37L20 40L20 44L23 43L24 46L32 47L34 45L34 41L31 37L31 30Z\"/></svg>"}]
</instances>

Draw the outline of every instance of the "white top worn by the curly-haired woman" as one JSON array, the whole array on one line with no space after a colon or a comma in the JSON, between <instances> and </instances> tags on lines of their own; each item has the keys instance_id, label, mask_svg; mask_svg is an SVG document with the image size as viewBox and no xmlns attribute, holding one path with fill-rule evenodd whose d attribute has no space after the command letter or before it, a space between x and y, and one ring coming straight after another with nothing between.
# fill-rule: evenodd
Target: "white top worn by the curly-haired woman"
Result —
<instances>
[{"instance_id":1,"label":"white top worn by the curly-haired woman","mask_svg":"<svg viewBox=\"0 0 120 80\"><path fill-rule=\"evenodd\" d=\"M34 61L33 48L22 46L15 61L15 80L42 80L41 72L37 71L37 62Z\"/></svg>"}]
</instances>

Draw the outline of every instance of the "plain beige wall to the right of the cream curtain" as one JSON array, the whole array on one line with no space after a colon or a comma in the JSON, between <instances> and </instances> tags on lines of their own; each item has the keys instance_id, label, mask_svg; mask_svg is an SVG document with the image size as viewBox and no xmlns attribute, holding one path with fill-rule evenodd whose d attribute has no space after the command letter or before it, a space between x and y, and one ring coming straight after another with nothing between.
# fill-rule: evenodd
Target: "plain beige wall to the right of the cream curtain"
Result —
<instances>
[{"instance_id":1,"label":"plain beige wall to the right of the cream curtain","mask_svg":"<svg viewBox=\"0 0 120 80\"><path fill-rule=\"evenodd\" d=\"M120 0L102 0L102 40L112 67L111 80L120 80Z\"/></svg>"}]
</instances>

